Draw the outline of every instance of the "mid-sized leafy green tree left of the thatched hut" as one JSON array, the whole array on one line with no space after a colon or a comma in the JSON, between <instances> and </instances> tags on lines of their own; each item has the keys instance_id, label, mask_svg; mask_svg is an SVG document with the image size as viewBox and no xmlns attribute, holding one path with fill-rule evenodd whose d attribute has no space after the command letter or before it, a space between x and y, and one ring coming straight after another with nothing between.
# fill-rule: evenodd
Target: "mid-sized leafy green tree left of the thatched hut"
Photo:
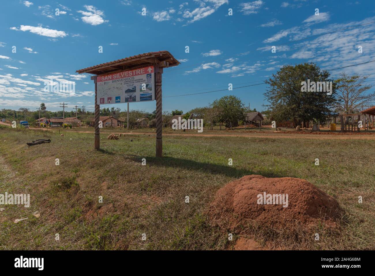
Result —
<instances>
[{"instance_id":1,"label":"mid-sized leafy green tree left of the thatched hut","mask_svg":"<svg viewBox=\"0 0 375 276\"><path fill-rule=\"evenodd\" d=\"M214 101L211 106L219 111L219 121L225 122L226 127L237 126L238 121L245 119L245 105L236 96L223 96Z\"/></svg>"}]
</instances>

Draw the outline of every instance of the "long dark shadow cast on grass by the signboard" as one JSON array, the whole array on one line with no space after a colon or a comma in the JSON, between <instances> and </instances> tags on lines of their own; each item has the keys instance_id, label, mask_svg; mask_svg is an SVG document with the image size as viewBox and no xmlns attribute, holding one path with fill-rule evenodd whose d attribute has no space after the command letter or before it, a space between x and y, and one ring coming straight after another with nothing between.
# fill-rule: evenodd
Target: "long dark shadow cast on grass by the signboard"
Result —
<instances>
[{"instance_id":1,"label":"long dark shadow cast on grass by the signboard","mask_svg":"<svg viewBox=\"0 0 375 276\"><path fill-rule=\"evenodd\" d=\"M172 168L194 169L197 171L204 171L210 174L224 174L229 177L243 177L244 175L259 174L251 169L236 168L229 165L218 165L208 162L198 162L195 160L181 159L170 156L163 156L162 158L155 156L136 156L129 155L129 158L135 162L141 162L142 158L147 160L148 166L168 166ZM286 175L274 174L273 172L263 172L261 175L265 177L285 177Z\"/></svg>"}]
</instances>

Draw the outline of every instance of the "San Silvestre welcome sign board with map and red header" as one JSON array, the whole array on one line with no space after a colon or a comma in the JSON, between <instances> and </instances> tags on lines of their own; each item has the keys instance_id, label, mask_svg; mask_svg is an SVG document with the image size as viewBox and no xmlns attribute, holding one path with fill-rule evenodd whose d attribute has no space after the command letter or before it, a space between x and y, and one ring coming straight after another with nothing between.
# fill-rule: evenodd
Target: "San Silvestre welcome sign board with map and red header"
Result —
<instances>
[{"instance_id":1,"label":"San Silvestre welcome sign board with map and red header","mask_svg":"<svg viewBox=\"0 0 375 276\"><path fill-rule=\"evenodd\" d=\"M99 105L155 100L154 66L101 75L96 82Z\"/></svg>"}]
</instances>

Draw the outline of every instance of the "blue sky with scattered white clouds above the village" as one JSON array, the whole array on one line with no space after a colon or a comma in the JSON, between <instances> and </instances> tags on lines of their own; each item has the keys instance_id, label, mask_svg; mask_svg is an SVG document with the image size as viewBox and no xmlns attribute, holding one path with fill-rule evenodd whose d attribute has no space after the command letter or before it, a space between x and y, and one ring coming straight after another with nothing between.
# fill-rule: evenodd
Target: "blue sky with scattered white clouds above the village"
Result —
<instances>
[{"instance_id":1,"label":"blue sky with scattered white clouds above the village","mask_svg":"<svg viewBox=\"0 0 375 276\"><path fill-rule=\"evenodd\" d=\"M60 110L59 103L65 101L68 110L74 105L93 110L90 74L75 71L152 51L167 50L181 62L164 69L163 96L226 89L228 83L233 87L261 83L288 64L315 62L322 69L333 69L375 60L375 23L321 35L375 21L374 0L31 0L1 5L0 108L36 110L44 102L47 110ZM228 15L229 8L233 15ZM299 40L310 36L316 37ZM372 74L369 81L374 83L375 63L332 74L337 77L343 71ZM75 94L43 91L51 76L75 81ZM261 84L163 98L163 110L186 112L233 94L262 111L266 88ZM155 105L130 103L130 108L152 112ZM107 107L112 106L126 108L126 104Z\"/></svg>"}]
</instances>

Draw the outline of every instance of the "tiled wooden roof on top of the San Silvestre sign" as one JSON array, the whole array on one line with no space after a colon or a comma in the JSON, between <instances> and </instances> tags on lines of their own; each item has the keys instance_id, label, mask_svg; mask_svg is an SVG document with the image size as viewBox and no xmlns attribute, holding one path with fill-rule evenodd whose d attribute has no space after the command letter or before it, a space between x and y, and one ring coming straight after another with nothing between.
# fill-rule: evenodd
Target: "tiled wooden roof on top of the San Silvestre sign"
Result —
<instances>
[{"instance_id":1,"label":"tiled wooden roof on top of the San Silvestre sign","mask_svg":"<svg viewBox=\"0 0 375 276\"><path fill-rule=\"evenodd\" d=\"M114 71L122 71L130 68L154 65L157 67L172 67L179 65L177 59L168 51L148 52L132 57L126 57L113 62L106 62L99 65L77 70L78 74L89 73L94 75L109 74Z\"/></svg>"}]
</instances>

